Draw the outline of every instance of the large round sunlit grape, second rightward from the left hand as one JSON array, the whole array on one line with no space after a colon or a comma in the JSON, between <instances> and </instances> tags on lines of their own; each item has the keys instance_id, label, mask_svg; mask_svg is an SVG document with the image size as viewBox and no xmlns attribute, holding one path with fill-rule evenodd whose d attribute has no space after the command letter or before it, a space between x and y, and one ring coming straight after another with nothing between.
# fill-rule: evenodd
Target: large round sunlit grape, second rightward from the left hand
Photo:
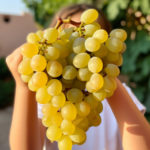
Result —
<instances>
[{"instance_id":1,"label":"large round sunlit grape, second rightward from the left hand","mask_svg":"<svg viewBox=\"0 0 150 150\"><path fill-rule=\"evenodd\" d=\"M46 68L46 64L46 59L42 55L35 55L31 59L31 67L34 71L43 71Z\"/></svg>"}]
</instances>

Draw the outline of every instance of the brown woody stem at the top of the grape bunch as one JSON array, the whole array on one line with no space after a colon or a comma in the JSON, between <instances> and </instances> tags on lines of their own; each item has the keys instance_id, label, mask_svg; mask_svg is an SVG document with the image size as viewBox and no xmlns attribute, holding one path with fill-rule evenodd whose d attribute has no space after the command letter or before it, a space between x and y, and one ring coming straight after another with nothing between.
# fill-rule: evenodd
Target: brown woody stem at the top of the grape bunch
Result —
<instances>
[{"instance_id":1,"label":"brown woody stem at the top of the grape bunch","mask_svg":"<svg viewBox=\"0 0 150 150\"><path fill-rule=\"evenodd\" d=\"M62 19L59 17L55 28L58 29L62 24L72 24L76 27L79 27L81 25L81 22L73 21L70 17L67 19Z\"/></svg>"}]
</instances>

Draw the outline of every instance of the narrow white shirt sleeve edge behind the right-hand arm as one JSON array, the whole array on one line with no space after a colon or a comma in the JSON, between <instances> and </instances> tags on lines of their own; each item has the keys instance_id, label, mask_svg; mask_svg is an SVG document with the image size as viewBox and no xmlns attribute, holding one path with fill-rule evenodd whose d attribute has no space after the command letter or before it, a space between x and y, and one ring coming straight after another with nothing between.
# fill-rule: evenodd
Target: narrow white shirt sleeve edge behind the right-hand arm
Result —
<instances>
[{"instance_id":1,"label":"narrow white shirt sleeve edge behind the right-hand arm","mask_svg":"<svg viewBox=\"0 0 150 150\"><path fill-rule=\"evenodd\" d=\"M144 114L146 112L146 107L140 103L140 101L137 99L135 94L132 92L132 90L125 84L122 83L125 89L127 90L128 94L130 95L133 102L136 104L137 108Z\"/></svg>"}]
</instances>

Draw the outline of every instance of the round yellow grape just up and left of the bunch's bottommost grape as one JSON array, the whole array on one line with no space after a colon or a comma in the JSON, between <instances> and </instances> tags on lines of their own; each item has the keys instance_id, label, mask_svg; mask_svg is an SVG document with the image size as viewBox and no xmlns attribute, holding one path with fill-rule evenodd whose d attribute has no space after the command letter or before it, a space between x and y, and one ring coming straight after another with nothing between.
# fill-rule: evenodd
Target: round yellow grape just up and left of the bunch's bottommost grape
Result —
<instances>
[{"instance_id":1,"label":"round yellow grape just up and left of the bunch's bottommost grape","mask_svg":"<svg viewBox=\"0 0 150 150\"><path fill-rule=\"evenodd\" d=\"M46 136L50 141L58 141L61 139L62 131L55 125L48 127L46 131Z\"/></svg>"}]
</instances>

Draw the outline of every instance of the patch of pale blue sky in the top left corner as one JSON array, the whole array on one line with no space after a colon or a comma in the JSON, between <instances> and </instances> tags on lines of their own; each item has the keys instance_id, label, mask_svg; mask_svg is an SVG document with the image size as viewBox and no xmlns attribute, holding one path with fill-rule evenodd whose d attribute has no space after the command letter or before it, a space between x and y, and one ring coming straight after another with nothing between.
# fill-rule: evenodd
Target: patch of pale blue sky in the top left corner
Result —
<instances>
[{"instance_id":1,"label":"patch of pale blue sky in the top left corner","mask_svg":"<svg viewBox=\"0 0 150 150\"><path fill-rule=\"evenodd\" d=\"M0 13L21 14L27 11L22 0L0 0Z\"/></svg>"}]
</instances>

